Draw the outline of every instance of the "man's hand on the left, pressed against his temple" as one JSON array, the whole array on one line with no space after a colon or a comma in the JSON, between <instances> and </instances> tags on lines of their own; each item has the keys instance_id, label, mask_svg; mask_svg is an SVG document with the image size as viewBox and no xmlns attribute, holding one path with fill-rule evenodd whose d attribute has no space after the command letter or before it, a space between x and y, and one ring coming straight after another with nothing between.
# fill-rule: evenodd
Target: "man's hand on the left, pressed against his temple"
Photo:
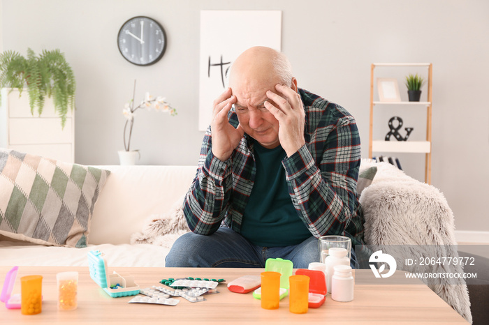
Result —
<instances>
[{"instance_id":1,"label":"man's hand on the left, pressed against his temple","mask_svg":"<svg viewBox=\"0 0 489 325\"><path fill-rule=\"evenodd\" d=\"M228 121L228 112L236 103L236 96L232 96L231 88L214 100L212 111L212 122L210 130L212 135L212 153L221 161L231 157L233 150L240 144L245 131L238 125L234 128Z\"/></svg>"}]
</instances>

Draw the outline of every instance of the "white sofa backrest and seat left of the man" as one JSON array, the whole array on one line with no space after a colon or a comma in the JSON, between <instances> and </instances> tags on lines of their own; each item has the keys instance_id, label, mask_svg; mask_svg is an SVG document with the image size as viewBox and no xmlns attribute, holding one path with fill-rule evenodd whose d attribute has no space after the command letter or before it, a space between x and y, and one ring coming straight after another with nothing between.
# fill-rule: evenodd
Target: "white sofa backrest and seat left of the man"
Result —
<instances>
[{"instance_id":1,"label":"white sofa backrest and seat left of the man","mask_svg":"<svg viewBox=\"0 0 489 325\"><path fill-rule=\"evenodd\" d=\"M89 225L88 246L35 245L0 237L0 266L88 266L90 250L108 265L163 267L169 248L131 245L131 235L151 216L163 216L189 189L195 166L96 166L110 170ZM182 202L182 201L181 201Z\"/></svg>"}]
</instances>

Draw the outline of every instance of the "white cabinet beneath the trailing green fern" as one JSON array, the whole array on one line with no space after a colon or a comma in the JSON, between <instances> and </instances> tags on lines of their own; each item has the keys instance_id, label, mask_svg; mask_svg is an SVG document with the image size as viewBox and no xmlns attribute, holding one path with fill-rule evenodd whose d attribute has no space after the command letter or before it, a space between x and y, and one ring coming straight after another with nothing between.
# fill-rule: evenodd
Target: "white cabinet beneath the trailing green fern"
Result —
<instances>
[{"instance_id":1,"label":"white cabinet beneath the trailing green fern","mask_svg":"<svg viewBox=\"0 0 489 325\"><path fill-rule=\"evenodd\" d=\"M31 114L27 89L1 89L0 147L64 162L75 160L75 116L68 110L66 123L46 98L43 114Z\"/></svg>"}]
</instances>

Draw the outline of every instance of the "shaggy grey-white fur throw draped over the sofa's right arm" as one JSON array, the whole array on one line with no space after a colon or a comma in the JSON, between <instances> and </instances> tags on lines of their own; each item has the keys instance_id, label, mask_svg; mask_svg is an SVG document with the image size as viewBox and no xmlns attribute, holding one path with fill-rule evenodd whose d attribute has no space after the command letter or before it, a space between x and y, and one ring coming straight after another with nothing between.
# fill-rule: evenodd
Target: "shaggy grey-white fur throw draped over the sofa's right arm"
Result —
<instances>
[{"instance_id":1,"label":"shaggy grey-white fur throw draped over the sofa's right arm","mask_svg":"<svg viewBox=\"0 0 489 325\"><path fill-rule=\"evenodd\" d=\"M373 165L377 166L377 174L360 196L365 216L365 243L429 245L430 249L440 250L435 256L458 257L453 212L444 195L434 186L412 179L387 162L363 160L360 172ZM441 252L445 249L451 251ZM398 262L397 266L402 264ZM430 273L446 272L444 265L430 267ZM460 266L455 269L462 272ZM465 282L463 285L428 284L428 287L472 323Z\"/></svg>"}]
</instances>

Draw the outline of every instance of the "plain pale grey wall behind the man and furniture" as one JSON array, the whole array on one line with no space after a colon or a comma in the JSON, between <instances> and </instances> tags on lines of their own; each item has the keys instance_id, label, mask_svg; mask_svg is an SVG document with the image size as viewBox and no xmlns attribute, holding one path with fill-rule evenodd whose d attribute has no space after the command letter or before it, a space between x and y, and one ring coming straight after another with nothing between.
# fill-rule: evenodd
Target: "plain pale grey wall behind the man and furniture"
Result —
<instances>
[{"instance_id":1,"label":"plain pale grey wall behind the man and furniture","mask_svg":"<svg viewBox=\"0 0 489 325\"><path fill-rule=\"evenodd\" d=\"M482 204L489 183L489 1L3 0L0 6L0 49L59 48L73 66L75 160L82 164L117 164L121 111L135 78L136 98L150 91L178 109L175 118L136 116L140 163L196 164L203 137L197 130L200 10L283 10L282 50L300 86L356 116L364 157L370 64L432 62L432 184L446 195L458 229L489 231ZM153 17L168 34L166 54L154 66L133 66L117 50L119 28L136 15ZM400 114L405 126L415 126L411 137L423 138L425 114ZM385 112L382 123L390 116ZM423 180L423 156L398 156L408 174Z\"/></svg>"}]
</instances>

